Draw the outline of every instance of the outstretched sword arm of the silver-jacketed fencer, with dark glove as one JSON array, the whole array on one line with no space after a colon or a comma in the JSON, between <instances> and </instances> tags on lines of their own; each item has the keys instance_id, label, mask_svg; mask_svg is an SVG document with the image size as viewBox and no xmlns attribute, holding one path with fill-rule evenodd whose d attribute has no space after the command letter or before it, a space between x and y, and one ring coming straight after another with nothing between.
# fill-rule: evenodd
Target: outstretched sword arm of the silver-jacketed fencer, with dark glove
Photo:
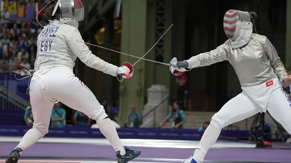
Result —
<instances>
[{"instance_id":1,"label":"outstretched sword arm of the silver-jacketed fencer, with dark glove","mask_svg":"<svg viewBox=\"0 0 291 163\"><path fill-rule=\"evenodd\" d=\"M210 52L201 53L183 62L177 62L177 67L192 69L228 60L230 48L229 43L225 42Z\"/></svg>"}]
</instances>

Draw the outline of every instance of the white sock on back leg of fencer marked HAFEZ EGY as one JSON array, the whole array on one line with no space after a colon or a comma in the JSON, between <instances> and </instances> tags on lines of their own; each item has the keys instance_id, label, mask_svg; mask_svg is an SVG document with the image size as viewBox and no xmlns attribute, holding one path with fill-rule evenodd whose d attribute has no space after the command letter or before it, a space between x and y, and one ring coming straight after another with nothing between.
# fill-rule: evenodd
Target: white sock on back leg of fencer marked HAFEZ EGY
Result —
<instances>
[{"instance_id":1,"label":"white sock on back leg of fencer marked HAFEZ EGY","mask_svg":"<svg viewBox=\"0 0 291 163\"><path fill-rule=\"evenodd\" d=\"M21 141L17 145L16 150L21 154L27 148L33 146L41 137L41 132L36 128L31 128L22 137Z\"/></svg>"}]
</instances>

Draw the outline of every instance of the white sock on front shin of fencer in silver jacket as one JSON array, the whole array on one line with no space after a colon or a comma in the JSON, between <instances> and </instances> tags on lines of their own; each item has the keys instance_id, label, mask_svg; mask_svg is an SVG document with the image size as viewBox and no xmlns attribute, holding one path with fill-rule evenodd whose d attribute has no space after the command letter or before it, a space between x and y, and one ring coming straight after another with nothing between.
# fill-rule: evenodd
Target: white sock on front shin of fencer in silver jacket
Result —
<instances>
[{"instance_id":1,"label":"white sock on front shin of fencer in silver jacket","mask_svg":"<svg viewBox=\"0 0 291 163\"><path fill-rule=\"evenodd\" d=\"M214 145L214 143L219 137L220 132L221 132L221 129L214 127L212 124L210 124L206 128L199 142L199 145L194 151L194 154L192 157L193 159L195 159L196 162L203 162L207 151L209 150L211 146Z\"/></svg>"}]
</instances>

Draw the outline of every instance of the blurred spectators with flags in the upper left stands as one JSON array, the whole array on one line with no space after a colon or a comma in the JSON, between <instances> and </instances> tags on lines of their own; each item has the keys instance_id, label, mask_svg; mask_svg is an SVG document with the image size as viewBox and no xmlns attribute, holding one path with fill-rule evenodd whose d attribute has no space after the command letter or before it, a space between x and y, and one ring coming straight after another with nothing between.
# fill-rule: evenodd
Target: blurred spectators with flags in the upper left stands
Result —
<instances>
[{"instance_id":1,"label":"blurred spectators with flags in the upper left stands","mask_svg":"<svg viewBox=\"0 0 291 163\"><path fill-rule=\"evenodd\" d=\"M37 2L37 3L35 3ZM44 10L49 0L5 0L1 13L0 60L1 71L34 69L37 36L47 25ZM32 10L32 11L31 11ZM10 63L10 64L9 64ZM9 65L7 65L9 64Z\"/></svg>"}]
</instances>

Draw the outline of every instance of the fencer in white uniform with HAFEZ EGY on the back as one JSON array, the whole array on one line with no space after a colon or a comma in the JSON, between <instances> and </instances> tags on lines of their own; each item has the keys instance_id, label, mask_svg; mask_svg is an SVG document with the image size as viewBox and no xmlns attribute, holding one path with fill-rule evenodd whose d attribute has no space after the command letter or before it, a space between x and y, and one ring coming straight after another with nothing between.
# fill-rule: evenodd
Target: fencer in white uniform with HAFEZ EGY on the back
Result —
<instances>
[{"instance_id":1,"label":"fencer in white uniform with HAFEZ EGY on the back","mask_svg":"<svg viewBox=\"0 0 291 163\"><path fill-rule=\"evenodd\" d=\"M66 14L68 11L70 13ZM140 150L123 148L103 106L90 89L73 74L77 57L87 66L112 76L130 72L128 67L117 67L101 60L93 55L84 43L78 42L83 42L78 30L83 21L83 14L83 4L80 0L73 0L73 3L71 0L58 0L54 8L46 10L51 22L37 38L37 59L29 87L34 116L33 128L27 131L19 145L10 153L6 163L16 163L21 152L49 132L51 111L56 101L96 120L101 133L116 151L118 163L126 163L140 155Z\"/></svg>"}]
</instances>

